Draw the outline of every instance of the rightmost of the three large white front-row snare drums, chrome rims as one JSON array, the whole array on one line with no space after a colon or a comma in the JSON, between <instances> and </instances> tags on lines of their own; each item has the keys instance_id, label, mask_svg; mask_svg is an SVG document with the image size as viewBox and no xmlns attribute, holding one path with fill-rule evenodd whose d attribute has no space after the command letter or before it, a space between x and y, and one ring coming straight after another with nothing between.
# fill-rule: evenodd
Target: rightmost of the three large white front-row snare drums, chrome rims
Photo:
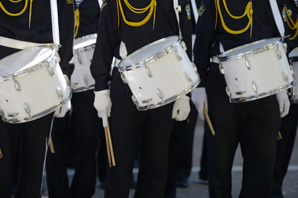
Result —
<instances>
[{"instance_id":1,"label":"rightmost of the three large white front-row snare drums, chrome rims","mask_svg":"<svg viewBox=\"0 0 298 198\"><path fill-rule=\"evenodd\" d=\"M293 86L286 44L280 38L242 45L217 58L230 102L263 98Z\"/></svg>"}]
</instances>

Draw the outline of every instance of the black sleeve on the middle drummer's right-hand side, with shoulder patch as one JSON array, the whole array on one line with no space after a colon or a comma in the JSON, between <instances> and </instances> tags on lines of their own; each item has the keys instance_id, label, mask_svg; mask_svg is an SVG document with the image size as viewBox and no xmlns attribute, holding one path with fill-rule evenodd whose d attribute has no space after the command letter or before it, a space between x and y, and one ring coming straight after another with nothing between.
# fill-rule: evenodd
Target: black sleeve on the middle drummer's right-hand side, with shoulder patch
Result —
<instances>
[{"instance_id":1,"label":"black sleeve on the middle drummer's right-hand side, with shoulder patch","mask_svg":"<svg viewBox=\"0 0 298 198\"><path fill-rule=\"evenodd\" d=\"M180 18L180 29L182 33L182 40L186 44L186 53L190 60L192 60L192 35L191 35L191 15L189 0L184 0L181 5Z\"/></svg>"}]
</instances>

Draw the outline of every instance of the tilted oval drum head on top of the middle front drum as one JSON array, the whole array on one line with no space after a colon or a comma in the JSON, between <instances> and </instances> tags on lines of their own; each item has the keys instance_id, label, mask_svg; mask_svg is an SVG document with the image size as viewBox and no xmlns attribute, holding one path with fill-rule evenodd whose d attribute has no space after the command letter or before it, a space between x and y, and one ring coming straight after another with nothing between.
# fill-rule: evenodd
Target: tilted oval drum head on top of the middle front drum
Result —
<instances>
[{"instance_id":1,"label":"tilted oval drum head on top of the middle front drum","mask_svg":"<svg viewBox=\"0 0 298 198\"><path fill-rule=\"evenodd\" d=\"M129 65L133 65L138 62L144 61L146 59L149 59L155 54L162 52L168 47L170 47L171 45L173 45L175 42L178 41L178 39L179 39L178 36L170 36L170 37L155 41L153 43L150 43L142 47L141 49L138 49L137 51L133 52L129 56L127 56L119 63L118 66L126 67Z\"/></svg>"}]
</instances>

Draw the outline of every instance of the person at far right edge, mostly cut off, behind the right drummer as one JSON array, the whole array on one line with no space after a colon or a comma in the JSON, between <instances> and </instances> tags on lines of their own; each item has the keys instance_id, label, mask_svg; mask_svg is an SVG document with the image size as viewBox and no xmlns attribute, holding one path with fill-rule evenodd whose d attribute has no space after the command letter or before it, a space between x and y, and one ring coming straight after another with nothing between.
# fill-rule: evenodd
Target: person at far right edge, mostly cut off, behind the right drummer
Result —
<instances>
[{"instance_id":1,"label":"person at far right edge, mostly cut off, behind the right drummer","mask_svg":"<svg viewBox=\"0 0 298 198\"><path fill-rule=\"evenodd\" d=\"M289 52L298 47L298 1L285 0L285 6L282 8L283 19L288 25ZM296 69L296 68L294 68ZM297 68L298 69L298 68ZM297 79L296 79L297 84ZM298 122L298 104L291 103L289 114L282 118L280 133L282 139L277 141L277 153L273 170L273 198L283 198L282 182L286 176L289 161L291 158Z\"/></svg>"}]
</instances>

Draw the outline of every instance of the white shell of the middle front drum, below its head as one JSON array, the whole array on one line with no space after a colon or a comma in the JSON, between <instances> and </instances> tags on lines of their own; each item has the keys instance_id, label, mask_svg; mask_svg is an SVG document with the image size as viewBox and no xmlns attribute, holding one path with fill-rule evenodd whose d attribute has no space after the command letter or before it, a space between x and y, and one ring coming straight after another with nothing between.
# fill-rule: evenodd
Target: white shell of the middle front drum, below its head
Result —
<instances>
[{"instance_id":1,"label":"white shell of the middle front drum, below its head","mask_svg":"<svg viewBox=\"0 0 298 198\"><path fill-rule=\"evenodd\" d=\"M175 48L182 57L181 60ZM148 61L137 68L122 70L133 93L133 101L139 110L152 109L173 102L199 84L200 79L196 67L190 62L185 49L181 44L176 45L175 48L169 50L166 55ZM152 77L147 74L146 69L150 71ZM121 72L121 67L119 70ZM192 80L185 72L191 76ZM162 98L158 96L157 90Z\"/></svg>"}]
</instances>

